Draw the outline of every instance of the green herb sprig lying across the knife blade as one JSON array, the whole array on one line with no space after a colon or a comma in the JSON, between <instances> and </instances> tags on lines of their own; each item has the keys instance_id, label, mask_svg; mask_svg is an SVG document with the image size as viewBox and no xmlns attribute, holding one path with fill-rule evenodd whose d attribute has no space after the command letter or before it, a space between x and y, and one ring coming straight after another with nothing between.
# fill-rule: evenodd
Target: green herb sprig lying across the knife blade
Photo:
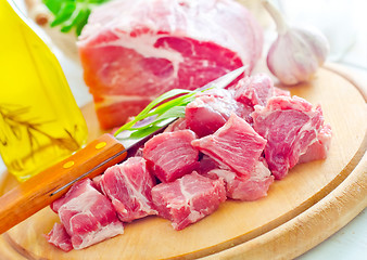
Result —
<instances>
[{"instance_id":1,"label":"green herb sprig lying across the knife blade","mask_svg":"<svg viewBox=\"0 0 367 260\"><path fill-rule=\"evenodd\" d=\"M205 91L205 90L203 90ZM201 91L173 89L152 101L132 121L121 127L114 135L123 131L131 131L129 138L140 139L147 136L161 128L160 123L168 118L185 117L187 104L194 100L195 94ZM176 99L173 99L177 96ZM137 122L148 120L147 125L138 127Z\"/></svg>"}]
</instances>

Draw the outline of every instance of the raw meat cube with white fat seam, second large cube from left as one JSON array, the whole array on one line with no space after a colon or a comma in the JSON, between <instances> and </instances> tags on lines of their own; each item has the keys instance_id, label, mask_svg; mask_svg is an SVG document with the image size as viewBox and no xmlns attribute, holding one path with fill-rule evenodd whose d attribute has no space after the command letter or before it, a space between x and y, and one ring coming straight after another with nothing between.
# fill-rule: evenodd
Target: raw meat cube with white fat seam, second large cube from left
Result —
<instances>
[{"instance_id":1,"label":"raw meat cube with white fat seam, second large cube from left","mask_svg":"<svg viewBox=\"0 0 367 260\"><path fill-rule=\"evenodd\" d=\"M151 202L151 190L155 185L155 180L141 157L128 158L123 164L106 169L100 185L112 200L121 221L131 222L157 213Z\"/></svg>"}]
</instances>

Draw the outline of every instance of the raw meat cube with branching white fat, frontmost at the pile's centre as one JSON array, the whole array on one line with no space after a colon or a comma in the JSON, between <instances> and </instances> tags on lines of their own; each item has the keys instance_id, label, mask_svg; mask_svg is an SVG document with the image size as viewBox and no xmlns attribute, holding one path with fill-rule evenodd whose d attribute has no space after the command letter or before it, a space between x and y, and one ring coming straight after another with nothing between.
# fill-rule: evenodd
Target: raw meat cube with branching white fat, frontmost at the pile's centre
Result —
<instances>
[{"instance_id":1,"label":"raw meat cube with branching white fat, frontmost at the pile's centre","mask_svg":"<svg viewBox=\"0 0 367 260\"><path fill-rule=\"evenodd\" d=\"M152 198L160 216L172 221L175 230L182 230L213 213L226 200L222 179L212 180L193 171L174 182L152 188Z\"/></svg>"}]
</instances>

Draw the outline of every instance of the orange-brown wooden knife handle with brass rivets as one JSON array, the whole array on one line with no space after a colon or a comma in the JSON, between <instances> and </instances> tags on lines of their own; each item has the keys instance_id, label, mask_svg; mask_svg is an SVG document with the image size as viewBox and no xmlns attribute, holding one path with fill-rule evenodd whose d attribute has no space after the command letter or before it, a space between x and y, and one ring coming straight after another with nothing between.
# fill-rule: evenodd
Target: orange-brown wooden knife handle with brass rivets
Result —
<instances>
[{"instance_id":1,"label":"orange-brown wooden knife handle with brass rivets","mask_svg":"<svg viewBox=\"0 0 367 260\"><path fill-rule=\"evenodd\" d=\"M50 205L67 192L84 173L93 178L127 155L125 147L111 134L103 134L68 158L41 171L0 197L0 234ZM63 188L64 187L64 188Z\"/></svg>"}]
</instances>

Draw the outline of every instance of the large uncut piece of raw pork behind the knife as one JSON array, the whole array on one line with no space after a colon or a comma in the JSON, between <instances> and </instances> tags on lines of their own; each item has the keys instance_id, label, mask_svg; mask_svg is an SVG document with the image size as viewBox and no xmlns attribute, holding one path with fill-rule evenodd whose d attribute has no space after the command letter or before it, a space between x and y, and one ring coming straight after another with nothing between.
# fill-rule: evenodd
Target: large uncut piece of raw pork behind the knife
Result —
<instances>
[{"instance_id":1,"label":"large uncut piece of raw pork behind the knife","mask_svg":"<svg viewBox=\"0 0 367 260\"><path fill-rule=\"evenodd\" d=\"M138 114L174 88L197 89L261 56L262 29L235 0L115 0L78 41L101 127Z\"/></svg>"}]
</instances>

